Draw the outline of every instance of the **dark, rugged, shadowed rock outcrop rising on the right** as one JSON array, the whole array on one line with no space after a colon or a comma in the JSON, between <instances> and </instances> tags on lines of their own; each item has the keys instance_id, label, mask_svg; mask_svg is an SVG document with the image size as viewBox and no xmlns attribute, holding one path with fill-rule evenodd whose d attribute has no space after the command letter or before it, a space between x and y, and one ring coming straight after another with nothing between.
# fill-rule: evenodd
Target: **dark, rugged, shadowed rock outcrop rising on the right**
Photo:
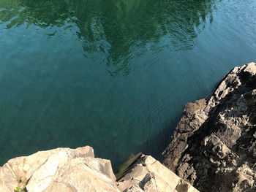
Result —
<instances>
[{"instance_id":1,"label":"dark, rugged, shadowed rock outcrop rising on the right","mask_svg":"<svg viewBox=\"0 0 256 192\"><path fill-rule=\"evenodd\" d=\"M163 164L200 191L256 191L256 64L184 107Z\"/></svg>"}]
</instances>

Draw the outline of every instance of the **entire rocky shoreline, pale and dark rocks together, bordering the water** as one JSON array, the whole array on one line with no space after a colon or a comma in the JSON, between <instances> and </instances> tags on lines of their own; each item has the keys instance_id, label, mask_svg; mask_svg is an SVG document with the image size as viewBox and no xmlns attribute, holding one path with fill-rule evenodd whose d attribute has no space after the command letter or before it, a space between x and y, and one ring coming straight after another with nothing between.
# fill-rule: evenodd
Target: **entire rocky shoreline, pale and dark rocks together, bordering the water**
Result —
<instances>
[{"instance_id":1,"label":"entire rocky shoreline, pale and dark rocks together, bordering the water","mask_svg":"<svg viewBox=\"0 0 256 192\"><path fill-rule=\"evenodd\" d=\"M256 64L235 67L207 99L188 103L162 155L165 166L136 155L116 180L89 146L39 151L0 167L0 191L256 191Z\"/></svg>"}]
</instances>

